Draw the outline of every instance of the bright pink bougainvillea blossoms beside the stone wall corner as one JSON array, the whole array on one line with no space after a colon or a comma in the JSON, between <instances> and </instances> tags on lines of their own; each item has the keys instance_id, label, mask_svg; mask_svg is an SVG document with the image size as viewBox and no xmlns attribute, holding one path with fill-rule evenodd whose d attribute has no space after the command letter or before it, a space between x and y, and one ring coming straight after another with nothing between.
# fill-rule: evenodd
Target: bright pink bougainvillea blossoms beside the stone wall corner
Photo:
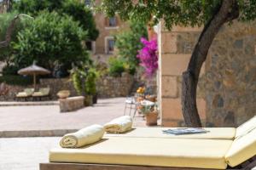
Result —
<instances>
[{"instance_id":1,"label":"bright pink bougainvillea blossoms beside the stone wall corner","mask_svg":"<svg viewBox=\"0 0 256 170\"><path fill-rule=\"evenodd\" d=\"M137 58L140 59L140 65L145 69L146 75L153 77L158 69L157 40L154 38L148 41L142 37L141 42L143 43L143 48L138 51Z\"/></svg>"}]
</instances>

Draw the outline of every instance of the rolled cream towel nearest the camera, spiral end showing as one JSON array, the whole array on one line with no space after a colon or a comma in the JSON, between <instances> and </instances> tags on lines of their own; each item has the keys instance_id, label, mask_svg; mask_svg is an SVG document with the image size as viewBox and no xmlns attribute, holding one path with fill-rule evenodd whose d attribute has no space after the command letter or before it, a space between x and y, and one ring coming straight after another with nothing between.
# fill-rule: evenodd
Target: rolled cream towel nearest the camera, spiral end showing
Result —
<instances>
[{"instance_id":1,"label":"rolled cream towel nearest the camera, spiral end showing","mask_svg":"<svg viewBox=\"0 0 256 170\"><path fill-rule=\"evenodd\" d=\"M104 127L101 125L91 125L84 127L76 133L67 133L60 141L62 148L79 148L86 144L93 144L102 139Z\"/></svg>"}]
</instances>

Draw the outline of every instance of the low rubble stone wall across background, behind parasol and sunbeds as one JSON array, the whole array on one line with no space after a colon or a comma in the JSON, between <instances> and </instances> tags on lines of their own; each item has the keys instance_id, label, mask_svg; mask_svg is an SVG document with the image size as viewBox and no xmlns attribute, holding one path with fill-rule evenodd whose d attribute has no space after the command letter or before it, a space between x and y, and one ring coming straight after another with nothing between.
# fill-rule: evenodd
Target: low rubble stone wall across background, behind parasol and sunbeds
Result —
<instances>
[{"instance_id":1,"label":"low rubble stone wall across background, behind parasol and sunbeds","mask_svg":"<svg viewBox=\"0 0 256 170\"><path fill-rule=\"evenodd\" d=\"M96 83L98 97L100 98L113 98L113 97L125 97L130 94L131 88L134 82L134 78L129 74L123 74L122 77L102 77ZM73 88L73 82L68 78L49 78L41 79L38 84L38 88L50 88L50 94L52 99L58 99L56 94L61 90L70 90L71 96L77 96L75 89ZM0 101L12 101L15 100L15 94L23 91L24 88L32 88L32 86L21 87L7 85L9 93L6 95L0 95Z\"/></svg>"}]
</instances>

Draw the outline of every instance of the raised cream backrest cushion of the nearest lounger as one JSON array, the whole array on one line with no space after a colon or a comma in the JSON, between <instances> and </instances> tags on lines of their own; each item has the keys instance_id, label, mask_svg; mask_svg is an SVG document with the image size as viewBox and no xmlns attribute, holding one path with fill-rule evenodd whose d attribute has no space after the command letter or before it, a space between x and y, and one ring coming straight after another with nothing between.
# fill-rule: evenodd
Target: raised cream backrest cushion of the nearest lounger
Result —
<instances>
[{"instance_id":1,"label":"raised cream backrest cushion of the nearest lounger","mask_svg":"<svg viewBox=\"0 0 256 170\"><path fill-rule=\"evenodd\" d=\"M236 138L225 158L230 167L236 167L256 155L256 128Z\"/></svg>"}]
</instances>

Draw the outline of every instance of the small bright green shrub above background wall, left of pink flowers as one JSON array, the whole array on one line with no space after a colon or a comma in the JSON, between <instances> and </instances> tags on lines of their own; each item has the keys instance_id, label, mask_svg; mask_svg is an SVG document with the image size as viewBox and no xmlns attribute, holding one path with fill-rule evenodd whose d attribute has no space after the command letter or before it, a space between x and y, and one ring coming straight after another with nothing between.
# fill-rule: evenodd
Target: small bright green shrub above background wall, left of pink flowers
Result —
<instances>
[{"instance_id":1,"label":"small bright green shrub above background wall, left of pink flowers","mask_svg":"<svg viewBox=\"0 0 256 170\"><path fill-rule=\"evenodd\" d=\"M108 60L108 73L112 77L121 77L125 72L125 62L123 59L112 57Z\"/></svg>"}]
</instances>

